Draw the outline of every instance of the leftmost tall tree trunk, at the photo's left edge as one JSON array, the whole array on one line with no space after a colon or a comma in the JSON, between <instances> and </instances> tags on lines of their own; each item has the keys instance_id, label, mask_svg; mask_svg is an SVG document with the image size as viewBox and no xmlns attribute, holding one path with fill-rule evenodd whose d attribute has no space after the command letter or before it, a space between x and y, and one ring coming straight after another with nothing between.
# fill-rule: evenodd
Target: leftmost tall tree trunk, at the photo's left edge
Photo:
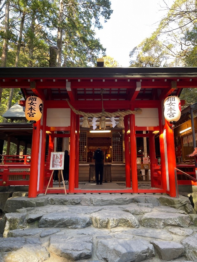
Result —
<instances>
[{"instance_id":1,"label":"leftmost tall tree trunk, at the photo's left edge","mask_svg":"<svg viewBox=\"0 0 197 262\"><path fill-rule=\"evenodd\" d=\"M10 2L6 3L6 11L5 11L5 27L4 27L4 44L1 55L1 66L6 67L7 53L8 53L8 35L9 35L9 13L10 13ZM1 105L1 97L2 97L3 88L0 87L0 105Z\"/></svg>"}]
</instances>

